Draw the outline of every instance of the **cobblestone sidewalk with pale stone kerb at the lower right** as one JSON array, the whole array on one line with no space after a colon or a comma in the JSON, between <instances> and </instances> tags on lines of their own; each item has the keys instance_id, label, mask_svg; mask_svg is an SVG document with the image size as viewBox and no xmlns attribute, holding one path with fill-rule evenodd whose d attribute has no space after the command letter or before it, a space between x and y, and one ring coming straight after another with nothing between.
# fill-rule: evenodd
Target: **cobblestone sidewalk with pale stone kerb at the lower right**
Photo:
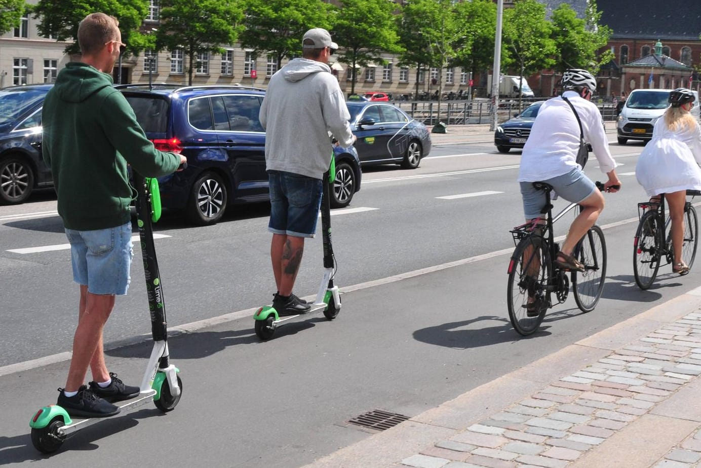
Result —
<instances>
[{"instance_id":1,"label":"cobblestone sidewalk with pale stone kerb at the lower right","mask_svg":"<svg viewBox=\"0 0 701 468\"><path fill-rule=\"evenodd\" d=\"M304 468L682 468L701 460L701 288Z\"/></svg>"}]
</instances>

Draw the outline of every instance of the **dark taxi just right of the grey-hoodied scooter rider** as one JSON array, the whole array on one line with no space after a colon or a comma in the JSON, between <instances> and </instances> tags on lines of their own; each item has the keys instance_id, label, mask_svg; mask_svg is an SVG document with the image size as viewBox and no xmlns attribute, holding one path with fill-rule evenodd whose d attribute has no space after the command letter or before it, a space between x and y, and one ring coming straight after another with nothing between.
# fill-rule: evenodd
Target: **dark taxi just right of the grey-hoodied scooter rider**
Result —
<instances>
[{"instance_id":1,"label":"dark taxi just right of the grey-hoodied scooter rider","mask_svg":"<svg viewBox=\"0 0 701 468\"><path fill-rule=\"evenodd\" d=\"M346 102L351 113L351 130L358 138L362 166L400 164L417 168L431 150L428 128L385 102Z\"/></svg>"}]
</instances>

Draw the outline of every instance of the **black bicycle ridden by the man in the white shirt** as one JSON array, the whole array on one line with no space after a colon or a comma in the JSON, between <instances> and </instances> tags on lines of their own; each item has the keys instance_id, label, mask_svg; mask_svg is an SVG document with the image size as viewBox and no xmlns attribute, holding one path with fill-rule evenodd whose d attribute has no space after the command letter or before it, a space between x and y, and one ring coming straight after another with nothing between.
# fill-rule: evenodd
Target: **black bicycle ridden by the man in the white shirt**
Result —
<instances>
[{"instance_id":1,"label":"black bicycle ridden by the man in the white shirt","mask_svg":"<svg viewBox=\"0 0 701 468\"><path fill-rule=\"evenodd\" d=\"M599 190L604 190L604 184L596 183ZM598 225L590 227L572 253L584 265L585 272L569 272L555 265L559 245L554 241L554 222L578 204L569 204L553 218L550 203L552 186L545 182L533 182L533 187L545 192L545 206L540 211L545 218L541 216L510 231L516 248L508 268L509 319L514 329L524 336L538 330L547 309L565 302L569 296L570 281L577 307L582 312L594 310L604 290L606 276L606 241ZM557 298L555 304L553 295Z\"/></svg>"}]
</instances>

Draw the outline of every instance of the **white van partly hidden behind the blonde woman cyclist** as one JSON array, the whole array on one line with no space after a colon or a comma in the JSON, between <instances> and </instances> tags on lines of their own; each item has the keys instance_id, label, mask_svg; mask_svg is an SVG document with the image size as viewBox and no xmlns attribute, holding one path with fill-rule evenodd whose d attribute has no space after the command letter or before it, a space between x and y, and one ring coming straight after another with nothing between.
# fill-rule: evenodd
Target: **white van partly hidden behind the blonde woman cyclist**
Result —
<instances>
[{"instance_id":1,"label":"white van partly hidden behind the blonde woman cyclist","mask_svg":"<svg viewBox=\"0 0 701 468\"><path fill-rule=\"evenodd\" d=\"M616 131L618 144L625 145L628 140L650 140L653 136L655 121L665 113L669 103L669 89L634 89L630 92L625 105L620 110ZM696 99L691 113L699 119L699 95L692 91Z\"/></svg>"}]
</instances>

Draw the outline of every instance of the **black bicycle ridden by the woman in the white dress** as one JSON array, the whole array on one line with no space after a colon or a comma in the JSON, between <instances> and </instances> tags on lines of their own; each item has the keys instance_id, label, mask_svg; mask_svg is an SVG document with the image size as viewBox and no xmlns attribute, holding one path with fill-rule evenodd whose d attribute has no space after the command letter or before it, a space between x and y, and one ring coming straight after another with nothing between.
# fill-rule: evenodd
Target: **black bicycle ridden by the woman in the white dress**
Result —
<instances>
[{"instance_id":1,"label":"black bicycle ridden by the woman in the white dress","mask_svg":"<svg viewBox=\"0 0 701 468\"><path fill-rule=\"evenodd\" d=\"M701 195L701 191L687 190L689 196ZM640 222L633 241L633 273L635 282L642 290L652 286L660 269L660 262L665 259L665 265L674 263L672 250L672 234L669 232L671 218L665 216L665 194L660 195L660 201L644 201L638 203ZM660 229L658 229L660 227ZM698 220L696 210L690 201L684 203L684 241L681 246L681 260L691 268L696 256L698 244Z\"/></svg>"}]
</instances>

